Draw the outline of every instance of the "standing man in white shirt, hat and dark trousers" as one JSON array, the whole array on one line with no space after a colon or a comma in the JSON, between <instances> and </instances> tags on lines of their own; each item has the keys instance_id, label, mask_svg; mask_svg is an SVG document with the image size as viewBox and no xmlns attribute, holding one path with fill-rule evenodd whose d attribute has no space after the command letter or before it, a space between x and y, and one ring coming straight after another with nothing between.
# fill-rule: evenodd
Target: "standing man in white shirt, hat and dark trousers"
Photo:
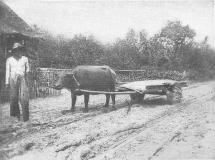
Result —
<instances>
[{"instance_id":1,"label":"standing man in white shirt, hat and dark trousers","mask_svg":"<svg viewBox=\"0 0 215 160\"><path fill-rule=\"evenodd\" d=\"M20 120L19 99L22 106L23 121L29 120L29 93L27 74L29 72L28 58L23 56L23 46L14 43L12 56L6 61L5 84L10 87L10 116Z\"/></svg>"}]
</instances>

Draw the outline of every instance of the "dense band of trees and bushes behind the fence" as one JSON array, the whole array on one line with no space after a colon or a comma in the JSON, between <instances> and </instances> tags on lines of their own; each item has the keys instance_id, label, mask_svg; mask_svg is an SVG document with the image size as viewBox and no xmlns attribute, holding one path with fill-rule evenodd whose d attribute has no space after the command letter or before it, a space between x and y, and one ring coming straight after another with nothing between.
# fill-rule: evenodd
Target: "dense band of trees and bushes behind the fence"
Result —
<instances>
[{"instance_id":1,"label":"dense band of trees and bushes behind the fence","mask_svg":"<svg viewBox=\"0 0 215 160\"><path fill-rule=\"evenodd\" d=\"M117 69L154 69L171 74L184 72L188 79L207 80L215 75L215 51L208 38L196 42L195 31L180 21L168 21L159 33L149 37L147 31L129 29L125 38L102 44L93 36L62 35L33 26L43 34L38 44L36 66L72 68L77 65L109 65Z\"/></svg>"}]
</instances>

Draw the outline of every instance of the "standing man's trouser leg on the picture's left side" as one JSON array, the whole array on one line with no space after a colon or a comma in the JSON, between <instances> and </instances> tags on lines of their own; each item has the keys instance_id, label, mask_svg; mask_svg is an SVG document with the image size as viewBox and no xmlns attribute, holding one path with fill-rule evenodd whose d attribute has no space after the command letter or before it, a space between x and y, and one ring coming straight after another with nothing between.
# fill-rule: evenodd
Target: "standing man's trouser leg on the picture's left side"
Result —
<instances>
[{"instance_id":1,"label":"standing man's trouser leg on the picture's left side","mask_svg":"<svg viewBox=\"0 0 215 160\"><path fill-rule=\"evenodd\" d=\"M19 84L13 79L10 80L10 116L20 118Z\"/></svg>"}]
</instances>

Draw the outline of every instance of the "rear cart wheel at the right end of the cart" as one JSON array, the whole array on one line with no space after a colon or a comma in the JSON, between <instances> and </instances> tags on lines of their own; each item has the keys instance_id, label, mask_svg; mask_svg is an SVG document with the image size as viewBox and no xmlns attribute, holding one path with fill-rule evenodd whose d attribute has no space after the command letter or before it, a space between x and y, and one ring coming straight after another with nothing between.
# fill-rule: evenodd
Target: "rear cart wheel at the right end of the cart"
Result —
<instances>
[{"instance_id":1,"label":"rear cart wheel at the right end of the cart","mask_svg":"<svg viewBox=\"0 0 215 160\"><path fill-rule=\"evenodd\" d=\"M180 103L182 99L181 87L174 86L166 92L167 101L169 104Z\"/></svg>"}]
</instances>

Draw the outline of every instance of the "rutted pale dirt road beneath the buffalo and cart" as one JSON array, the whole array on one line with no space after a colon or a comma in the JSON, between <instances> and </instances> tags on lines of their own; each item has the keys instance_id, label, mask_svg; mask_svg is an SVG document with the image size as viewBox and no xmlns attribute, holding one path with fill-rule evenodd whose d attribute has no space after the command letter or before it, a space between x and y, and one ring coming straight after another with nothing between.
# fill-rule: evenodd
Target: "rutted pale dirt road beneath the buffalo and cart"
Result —
<instances>
[{"instance_id":1,"label":"rutted pale dirt road beneath the buffalo and cart","mask_svg":"<svg viewBox=\"0 0 215 160\"><path fill-rule=\"evenodd\" d=\"M117 110L106 112L105 96L92 96L83 113L83 97L71 113L70 95L31 101L31 123L10 118L2 106L0 159L143 160L215 159L215 82L183 90L180 104L146 96L129 111L129 97L117 96Z\"/></svg>"}]
</instances>

